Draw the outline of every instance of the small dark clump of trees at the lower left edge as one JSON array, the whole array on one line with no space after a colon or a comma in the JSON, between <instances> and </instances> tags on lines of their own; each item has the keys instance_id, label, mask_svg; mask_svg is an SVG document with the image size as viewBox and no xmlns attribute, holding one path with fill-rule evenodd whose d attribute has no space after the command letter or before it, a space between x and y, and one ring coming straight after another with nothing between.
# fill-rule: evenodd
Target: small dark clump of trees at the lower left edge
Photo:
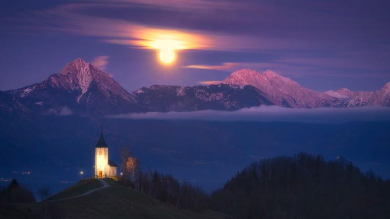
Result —
<instances>
[{"instance_id":1,"label":"small dark clump of trees at the lower left edge","mask_svg":"<svg viewBox=\"0 0 390 219\"><path fill-rule=\"evenodd\" d=\"M15 179L7 187L1 188L0 190L0 203L35 202L33 193L20 186Z\"/></svg>"}]
</instances>

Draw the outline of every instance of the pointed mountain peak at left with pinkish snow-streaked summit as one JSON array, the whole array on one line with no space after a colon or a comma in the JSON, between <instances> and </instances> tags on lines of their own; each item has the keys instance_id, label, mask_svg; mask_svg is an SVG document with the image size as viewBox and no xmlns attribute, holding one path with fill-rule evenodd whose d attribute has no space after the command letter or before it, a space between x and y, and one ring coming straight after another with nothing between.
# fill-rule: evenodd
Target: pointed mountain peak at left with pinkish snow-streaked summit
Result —
<instances>
[{"instance_id":1,"label":"pointed mountain peak at left with pinkish snow-streaked summit","mask_svg":"<svg viewBox=\"0 0 390 219\"><path fill-rule=\"evenodd\" d=\"M76 112L98 114L137 110L132 95L118 82L80 58L41 83L7 92L42 112L58 112L65 107Z\"/></svg>"}]
</instances>

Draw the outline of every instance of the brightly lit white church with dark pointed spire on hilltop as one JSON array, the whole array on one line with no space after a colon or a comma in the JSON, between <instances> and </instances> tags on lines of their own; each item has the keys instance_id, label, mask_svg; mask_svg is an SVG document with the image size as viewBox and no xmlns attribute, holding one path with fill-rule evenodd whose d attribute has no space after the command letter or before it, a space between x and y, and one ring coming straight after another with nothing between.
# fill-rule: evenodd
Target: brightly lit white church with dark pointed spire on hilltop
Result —
<instances>
[{"instance_id":1,"label":"brightly lit white church with dark pointed spire on hilltop","mask_svg":"<svg viewBox=\"0 0 390 219\"><path fill-rule=\"evenodd\" d=\"M103 129L95 146L95 178L116 177L118 165L108 158L108 146L103 137Z\"/></svg>"}]
</instances>

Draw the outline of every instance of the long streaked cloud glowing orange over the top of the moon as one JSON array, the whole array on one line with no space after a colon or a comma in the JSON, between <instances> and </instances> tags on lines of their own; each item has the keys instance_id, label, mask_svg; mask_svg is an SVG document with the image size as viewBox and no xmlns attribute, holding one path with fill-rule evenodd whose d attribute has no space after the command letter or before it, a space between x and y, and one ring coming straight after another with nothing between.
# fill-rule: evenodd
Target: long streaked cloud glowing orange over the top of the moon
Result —
<instances>
[{"instance_id":1,"label":"long streaked cloud glowing orange over the top of the moon","mask_svg":"<svg viewBox=\"0 0 390 219\"><path fill-rule=\"evenodd\" d=\"M184 25L186 27L170 27L170 23L167 23L166 25L148 25L146 22L137 22L137 18L117 18L112 17L112 13L104 13L105 10L112 11L124 8L135 10L139 5L146 8L149 8L147 6L152 6L159 9L161 9L161 5L165 5L165 8L179 8L179 11L183 8L186 10L192 8L191 5L197 5L195 8L208 8L210 11L213 11L213 9L253 9L253 7L248 7L248 5L240 7L237 4L240 3L233 1L217 2L206 0L195 0L194 2L191 0L172 0L171 3L161 3L157 0L125 0L114 1L114 3L106 1L86 1L84 3L62 4L43 11L34 11L30 16L27 16L26 19L28 19L29 22L28 28L93 36L98 37L107 43L126 45L140 49L155 49L153 48L153 44L156 40L161 39L178 41L179 44L183 46L182 49L214 51L314 48L318 45L314 41L303 39L286 41L284 37L280 36L262 36L260 34L253 35L246 33L232 34L227 32L221 34L220 31L214 30L215 28L203 30L199 28L189 28L187 27L188 25ZM180 13L178 11L176 12ZM198 11L196 10L194 14L197 13ZM129 14L129 12L125 14ZM212 14L213 13L211 13L211 15Z\"/></svg>"}]
</instances>

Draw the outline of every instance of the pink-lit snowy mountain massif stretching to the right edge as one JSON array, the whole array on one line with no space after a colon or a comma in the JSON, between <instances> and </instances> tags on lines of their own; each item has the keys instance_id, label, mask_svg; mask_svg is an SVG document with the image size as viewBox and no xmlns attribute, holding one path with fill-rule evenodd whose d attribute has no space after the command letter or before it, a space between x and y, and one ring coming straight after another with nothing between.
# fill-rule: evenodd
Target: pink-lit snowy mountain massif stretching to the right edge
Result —
<instances>
[{"instance_id":1,"label":"pink-lit snowy mountain massif stretching to the right edge","mask_svg":"<svg viewBox=\"0 0 390 219\"><path fill-rule=\"evenodd\" d=\"M277 102L275 105L292 108L390 106L390 82L378 91L317 92L300 86L296 81L267 70L258 73L243 69L232 73L222 81L226 84L252 85Z\"/></svg>"}]
</instances>

